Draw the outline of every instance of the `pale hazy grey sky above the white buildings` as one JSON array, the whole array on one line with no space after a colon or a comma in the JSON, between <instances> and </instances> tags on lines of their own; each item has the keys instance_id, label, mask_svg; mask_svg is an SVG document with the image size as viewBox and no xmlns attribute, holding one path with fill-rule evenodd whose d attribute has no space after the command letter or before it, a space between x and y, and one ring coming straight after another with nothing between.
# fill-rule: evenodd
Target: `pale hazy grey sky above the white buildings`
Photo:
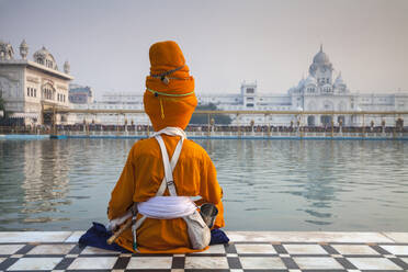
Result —
<instances>
[{"instance_id":1,"label":"pale hazy grey sky above the white buildings","mask_svg":"<svg viewBox=\"0 0 408 272\"><path fill-rule=\"evenodd\" d=\"M0 0L0 39L15 55L45 45L75 82L143 93L148 49L179 43L196 92L286 93L307 76L320 43L352 91L408 91L407 0Z\"/></svg>"}]
</instances>

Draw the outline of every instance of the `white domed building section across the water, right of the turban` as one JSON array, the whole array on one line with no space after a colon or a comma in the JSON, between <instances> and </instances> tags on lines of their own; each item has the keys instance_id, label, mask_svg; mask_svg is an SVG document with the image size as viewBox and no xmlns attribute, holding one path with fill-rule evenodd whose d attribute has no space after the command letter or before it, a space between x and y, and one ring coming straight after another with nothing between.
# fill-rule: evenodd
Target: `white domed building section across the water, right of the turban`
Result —
<instances>
[{"instance_id":1,"label":"white domed building section across the water, right of the turban","mask_svg":"<svg viewBox=\"0 0 408 272\"><path fill-rule=\"evenodd\" d=\"M315 55L309 67L309 76L301 79L296 87L288 89L286 94L259 93L257 82L241 84L239 94L200 95L199 103L214 103L222 110L246 111L408 111L408 93L356 93L351 92L339 72L333 81L333 67L329 57L324 53L322 46ZM335 125L341 121L345 126L362 125L360 115L333 115ZM331 124L331 115L310 114L305 116L303 125L324 126ZM381 125L386 117L367 116L365 124L371 121L374 125ZM388 117L388 125L392 125ZM235 118L236 124L287 125L295 121L294 116L254 116L242 115ZM394 125L394 124L393 124Z\"/></svg>"}]
</instances>

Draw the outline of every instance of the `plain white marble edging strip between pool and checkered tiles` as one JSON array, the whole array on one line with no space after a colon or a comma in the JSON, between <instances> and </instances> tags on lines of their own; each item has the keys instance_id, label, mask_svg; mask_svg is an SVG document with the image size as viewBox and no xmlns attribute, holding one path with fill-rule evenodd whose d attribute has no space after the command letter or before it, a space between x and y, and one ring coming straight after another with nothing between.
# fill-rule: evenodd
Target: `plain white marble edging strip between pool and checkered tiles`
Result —
<instances>
[{"instance_id":1,"label":"plain white marble edging strip between pool and checkered tiles","mask_svg":"<svg viewBox=\"0 0 408 272\"><path fill-rule=\"evenodd\" d=\"M226 231L231 242L408 242L408 233ZM0 231L0 242L78 242L84 231Z\"/></svg>"}]
</instances>

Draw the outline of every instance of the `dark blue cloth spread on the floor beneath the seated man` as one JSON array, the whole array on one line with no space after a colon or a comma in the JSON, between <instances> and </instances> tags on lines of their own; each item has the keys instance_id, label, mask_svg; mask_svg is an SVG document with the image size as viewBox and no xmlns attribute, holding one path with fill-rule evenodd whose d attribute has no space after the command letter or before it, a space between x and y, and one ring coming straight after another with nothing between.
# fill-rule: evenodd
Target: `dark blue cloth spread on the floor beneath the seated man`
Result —
<instances>
[{"instance_id":1,"label":"dark blue cloth spread on the floor beneath the seated man","mask_svg":"<svg viewBox=\"0 0 408 272\"><path fill-rule=\"evenodd\" d=\"M102 248L113 251L120 251L129 253L127 249L122 248L117 243L113 242L107 245L106 240L112 236L112 231L107 231L104 225L93 222L92 227L79 238L81 246L91 246L95 248ZM209 245L227 243L229 241L227 235L220 229L211 230L211 242Z\"/></svg>"}]
</instances>

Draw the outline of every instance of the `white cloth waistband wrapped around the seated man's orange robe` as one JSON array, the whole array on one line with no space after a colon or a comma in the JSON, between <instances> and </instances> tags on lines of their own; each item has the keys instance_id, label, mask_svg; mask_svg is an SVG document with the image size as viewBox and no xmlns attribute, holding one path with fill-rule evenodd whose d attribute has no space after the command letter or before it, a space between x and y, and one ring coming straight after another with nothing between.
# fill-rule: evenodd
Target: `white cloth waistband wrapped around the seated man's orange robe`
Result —
<instances>
[{"instance_id":1,"label":"white cloth waistband wrapped around the seated man's orange robe","mask_svg":"<svg viewBox=\"0 0 408 272\"><path fill-rule=\"evenodd\" d=\"M137 209L146 217L173 219L193 214L196 206L189 196L154 196L138 203Z\"/></svg>"}]
</instances>

